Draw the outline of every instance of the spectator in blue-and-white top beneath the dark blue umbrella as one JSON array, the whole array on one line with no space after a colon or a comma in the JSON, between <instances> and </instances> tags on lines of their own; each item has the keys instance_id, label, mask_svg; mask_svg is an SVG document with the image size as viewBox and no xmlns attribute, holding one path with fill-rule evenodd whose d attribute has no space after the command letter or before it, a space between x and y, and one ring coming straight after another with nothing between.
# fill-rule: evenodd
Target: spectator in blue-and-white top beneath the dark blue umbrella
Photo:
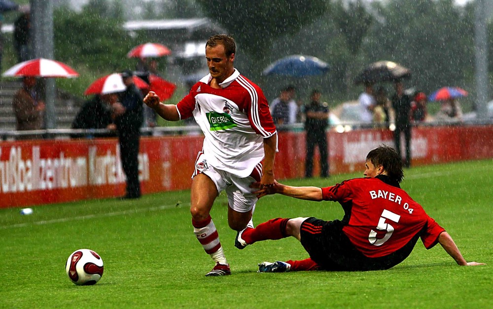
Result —
<instances>
[{"instance_id":1,"label":"spectator in blue-and-white top beneath the dark blue umbrella","mask_svg":"<svg viewBox=\"0 0 493 309\"><path fill-rule=\"evenodd\" d=\"M278 98L270 105L272 119L276 125L293 124L296 122L298 105L293 99L293 87L288 86L281 90Z\"/></svg>"}]
</instances>

